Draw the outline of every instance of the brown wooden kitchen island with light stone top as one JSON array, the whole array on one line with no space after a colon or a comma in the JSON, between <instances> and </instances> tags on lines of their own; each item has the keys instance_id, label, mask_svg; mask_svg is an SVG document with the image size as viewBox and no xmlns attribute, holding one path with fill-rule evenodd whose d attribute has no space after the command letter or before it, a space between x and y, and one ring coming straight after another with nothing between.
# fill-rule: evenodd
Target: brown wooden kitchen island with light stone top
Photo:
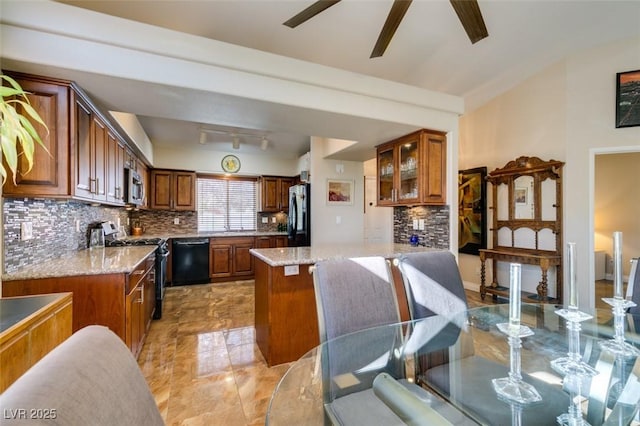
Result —
<instances>
[{"instance_id":1,"label":"brown wooden kitchen island with light stone top","mask_svg":"<svg viewBox=\"0 0 640 426\"><path fill-rule=\"evenodd\" d=\"M434 250L406 244L326 245L252 249L255 257L256 343L269 366L292 362L320 343L313 278L309 267L321 260ZM399 270L392 266L400 316L409 319Z\"/></svg>"}]
</instances>

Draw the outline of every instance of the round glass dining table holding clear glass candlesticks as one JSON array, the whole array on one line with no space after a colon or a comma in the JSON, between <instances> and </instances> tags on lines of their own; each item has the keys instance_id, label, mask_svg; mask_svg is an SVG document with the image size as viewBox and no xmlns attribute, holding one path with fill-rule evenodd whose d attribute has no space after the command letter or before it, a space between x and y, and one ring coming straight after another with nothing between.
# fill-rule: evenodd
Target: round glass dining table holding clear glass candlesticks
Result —
<instances>
[{"instance_id":1,"label":"round glass dining table holding clear glass candlesticks","mask_svg":"<svg viewBox=\"0 0 640 426\"><path fill-rule=\"evenodd\" d=\"M640 359L615 355L599 343L615 335L611 310L597 310L580 323L580 361L596 374L569 377L552 366L570 350L558 309L522 305L521 323L533 334L521 339L516 373L539 401L520 403L496 393L494 379L513 378L515 361L498 328L508 323L509 306L491 305L373 327L315 347L282 377L266 424L366 424L358 416L377 416L373 412L384 405L397 421L379 417L374 424L554 425L573 407L582 424L640 425ZM639 316L626 315L625 339L640 348ZM365 394L368 399L357 397Z\"/></svg>"}]
</instances>

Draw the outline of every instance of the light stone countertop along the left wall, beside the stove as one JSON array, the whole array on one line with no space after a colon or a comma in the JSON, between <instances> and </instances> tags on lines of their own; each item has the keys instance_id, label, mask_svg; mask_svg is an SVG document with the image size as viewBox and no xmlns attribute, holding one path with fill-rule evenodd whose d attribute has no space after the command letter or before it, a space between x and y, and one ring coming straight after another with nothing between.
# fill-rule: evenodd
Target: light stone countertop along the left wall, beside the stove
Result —
<instances>
[{"instance_id":1,"label":"light stone countertop along the left wall, beside the stove","mask_svg":"<svg viewBox=\"0 0 640 426\"><path fill-rule=\"evenodd\" d=\"M80 250L57 259L4 274L3 281L129 273L156 250L156 246L105 247Z\"/></svg>"}]
</instances>

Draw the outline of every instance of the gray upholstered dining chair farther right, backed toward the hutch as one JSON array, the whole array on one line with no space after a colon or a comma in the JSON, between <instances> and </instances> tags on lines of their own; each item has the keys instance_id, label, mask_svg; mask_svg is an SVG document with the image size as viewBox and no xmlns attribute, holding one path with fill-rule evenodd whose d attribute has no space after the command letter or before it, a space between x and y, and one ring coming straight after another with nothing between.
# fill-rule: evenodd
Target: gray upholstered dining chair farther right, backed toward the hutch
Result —
<instances>
[{"instance_id":1,"label":"gray upholstered dining chair farther right, backed toward the hutch","mask_svg":"<svg viewBox=\"0 0 640 426\"><path fill-rule=\"evenodd\" d=\"M491 385L491 379L509 374L509 366L475 355L467 324L464 284L453 254L447 251L410 253L397 258L395 264L402 274L411 319L438 315L434 321L417 324L433 327L423 332L428 337L416 351L417 383L454 396L466 412L484 419L483 423L511 424L511 413L496 409L496 405L504 403L497 399ZM533 377L527 376L525 380L545 390L541 403L545 409L525 410L523 424L555 424L556 416L568 407L568 395ZM460 386L477 391L457 394Z\"/></svg>"}]
</instances>

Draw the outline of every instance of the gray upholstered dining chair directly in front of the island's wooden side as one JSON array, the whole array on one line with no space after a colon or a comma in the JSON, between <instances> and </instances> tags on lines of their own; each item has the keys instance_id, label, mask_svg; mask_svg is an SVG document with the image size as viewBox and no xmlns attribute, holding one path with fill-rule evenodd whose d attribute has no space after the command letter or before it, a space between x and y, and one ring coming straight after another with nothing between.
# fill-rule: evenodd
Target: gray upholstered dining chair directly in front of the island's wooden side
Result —
<instances>
[{"instance_id":1,"label":"gray upholstered dining chair directly in front of the island's wooden side","mask_svg":"<svg viewBox=\"0 0 640 426\"><path fill-rule=\"evenodd\" d=\"M343 425L396 425L400 417L378 398L375 378L389 373L410 393L452 424L465 417L430 392L408 381L402 346L400 312L390 265L382 257L320 261L312 267L322 350L323 399L328 421ZM390 325L372 333L347 335ZM374 339L370 337L375 335Z\"/></svg>"}]
</instances>

